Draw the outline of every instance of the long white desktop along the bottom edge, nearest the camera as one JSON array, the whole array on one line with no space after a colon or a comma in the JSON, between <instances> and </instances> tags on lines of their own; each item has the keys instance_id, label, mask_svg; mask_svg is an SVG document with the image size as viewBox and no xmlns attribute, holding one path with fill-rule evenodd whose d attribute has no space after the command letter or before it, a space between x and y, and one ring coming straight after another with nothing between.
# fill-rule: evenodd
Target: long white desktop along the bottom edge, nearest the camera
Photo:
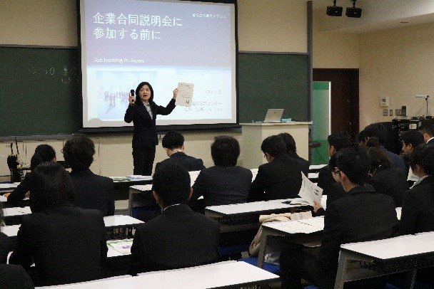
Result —
<instances>
[{"instance_id":1,"label":"long white desktop along the bottom edge, nearest the camera","mask_svg":"<svg viewBox=\"0 0 434 289\"><path fill-rule=\"evenodd\" d=\"M278 275L251 266L246 262L221 262L176 270L145 273L136 277L96 280L87 283L57 286L62 289L118 288L228 288L254 285L278 280ZM50 288L56 288L51 286Z\"/></svg>"}]
</instances>

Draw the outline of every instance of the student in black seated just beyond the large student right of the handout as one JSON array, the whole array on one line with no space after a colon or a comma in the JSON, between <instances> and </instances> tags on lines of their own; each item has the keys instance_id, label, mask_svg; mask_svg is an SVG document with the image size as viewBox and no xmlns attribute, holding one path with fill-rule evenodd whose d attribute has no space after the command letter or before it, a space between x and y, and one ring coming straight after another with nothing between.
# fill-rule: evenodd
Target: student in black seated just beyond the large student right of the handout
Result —
<instances>
[{"instance_id":1,"label":"student in black seated just beyond the large student right of the handout","mask_svg":"<svg viewBox=\"0 0 434 289\"><path fill-rule=\"evenodd\" d=\"M395 201L395 206L401 206L405 191L408 190L407 176L398 168L390 167L388 157L380 143L375 138L366 142L370 157L370 179L368 184L380 194L387 194Z\"/></svg>"}]
</instances>

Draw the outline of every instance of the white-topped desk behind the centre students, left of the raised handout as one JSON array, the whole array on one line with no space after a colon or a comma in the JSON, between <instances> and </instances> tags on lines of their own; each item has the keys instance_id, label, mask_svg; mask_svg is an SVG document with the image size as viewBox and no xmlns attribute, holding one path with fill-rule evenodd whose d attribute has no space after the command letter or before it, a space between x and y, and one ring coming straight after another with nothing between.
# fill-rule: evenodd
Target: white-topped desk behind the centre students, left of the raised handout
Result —
<instances>
[{"instance_id":1,"label":"white-topped desk behind the centre students, left of the raised handout","mask_svg":"<svg viewBox=\"0 0 434 289\"><path fill-rule=\"evenodd\" d=\"M308 206L283 203L283 201L291 200L292 199L280 199L253 201L243 204L207 206L205 208L205 216L218 221L218 223L221 224L221 232L243 231L251 228L259 228L260 215L293 213L297 209L308 208Z\"/></svg>"}]
</instances>

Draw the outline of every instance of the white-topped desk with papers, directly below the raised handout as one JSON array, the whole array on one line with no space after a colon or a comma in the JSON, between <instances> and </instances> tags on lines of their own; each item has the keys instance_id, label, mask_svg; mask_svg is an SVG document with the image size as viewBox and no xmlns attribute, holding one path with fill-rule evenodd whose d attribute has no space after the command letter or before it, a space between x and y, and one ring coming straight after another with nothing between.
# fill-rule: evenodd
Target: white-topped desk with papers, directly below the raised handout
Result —
<instances>
[{"instance_id":1,"label":"white-topped desk with papers, directly below the raised handout","mask_svg":"<svg viewBox=\"0 0 434 289\"><path fill-rule=\"evenodd\" d=\"M298 221L272 222L262 224L261 244L259 245L258 267L262 268L266 255L266 248L271 236L291 236L292 243L305 245L314 243L320 244L324 229L324 218L314 217ZM308 236L309 235L309 236Z\"/></svg>"}]
</instances>

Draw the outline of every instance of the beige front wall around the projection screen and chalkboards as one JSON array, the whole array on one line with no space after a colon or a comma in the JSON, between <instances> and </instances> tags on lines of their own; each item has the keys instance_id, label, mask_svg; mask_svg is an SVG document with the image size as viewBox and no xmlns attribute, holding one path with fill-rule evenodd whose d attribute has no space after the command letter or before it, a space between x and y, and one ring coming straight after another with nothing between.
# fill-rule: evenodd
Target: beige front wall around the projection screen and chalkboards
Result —
<instances>
[{"instance_id":1,"label":"beige front wall around the projection screen and chalkboards","mask_svg":"<svg viewBox=\"0 0 434 289\"><path fill-rule=\"evenodd\" d=\"M0 45L77 46L75 0L1 0ZM306 1L303 0L238 0L238 49L240 51L307 52ZM241 143L241 132L185 132L186 153L213 165L211 143L216 135L231 135ZM104 176L132 174L131 135L100 135L91 169ZM24 140L20 154L30 162L37 144L56 148L62 160L61 140ZM0 181L8 180L6 157L10 142L0 142ZM15 149L14 149L15 152ZM244 152L241 154L261 153ZM156 162L166 159L161 144L156 149ZM242 158L242 155L239 159ZM242 165L241 162L239 162ZM7 176L7 177L6 177Z\"/></svg>"}]
</instances>

